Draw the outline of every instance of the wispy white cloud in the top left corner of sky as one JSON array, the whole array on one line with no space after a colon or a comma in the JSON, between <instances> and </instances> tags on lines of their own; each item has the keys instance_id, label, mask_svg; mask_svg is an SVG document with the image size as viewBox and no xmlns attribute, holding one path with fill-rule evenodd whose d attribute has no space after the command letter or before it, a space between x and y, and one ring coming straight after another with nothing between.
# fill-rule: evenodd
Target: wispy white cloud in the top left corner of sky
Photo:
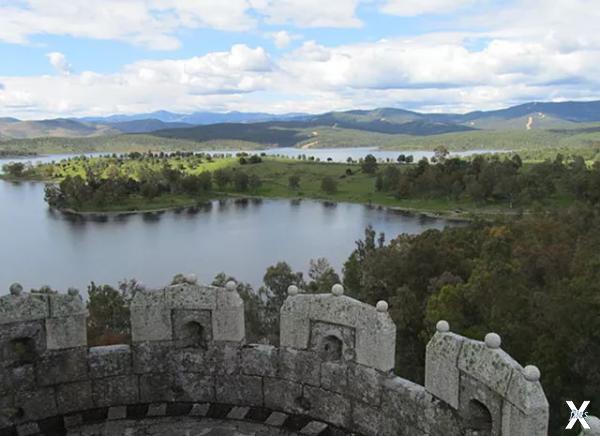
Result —
<instances>
[{"instance_id":1,"label":"wispy white cloud in the top left corner of sky","mask_svg":"<svg viewBox=\"0 0 600 436\"><path fill-rule=\"evenodd\" d=\"M153 49L179 47L180 28L241 31L255 26L248 0L25 0L0 4L0 41L26 43L38 34L127 41Z\"/></svg>"}]
</instances>

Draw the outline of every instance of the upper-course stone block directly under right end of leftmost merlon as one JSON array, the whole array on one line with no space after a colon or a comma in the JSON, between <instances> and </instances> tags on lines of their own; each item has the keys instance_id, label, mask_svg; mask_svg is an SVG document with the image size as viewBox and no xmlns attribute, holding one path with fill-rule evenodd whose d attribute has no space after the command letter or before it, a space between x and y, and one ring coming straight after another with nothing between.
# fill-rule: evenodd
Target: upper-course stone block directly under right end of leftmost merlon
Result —
<instances>
[{"instance_id":1,"label":"upper-course stone block directly under right end of leftmost merlon","mask_svg":"<svg viewBox=\"0 0 600 436\"><path fill-rule=\"evenodd\" d=\"M40 386L69 383L88 378L86 348L48 351L37 361Z\"/></svg>"}]
</instances>

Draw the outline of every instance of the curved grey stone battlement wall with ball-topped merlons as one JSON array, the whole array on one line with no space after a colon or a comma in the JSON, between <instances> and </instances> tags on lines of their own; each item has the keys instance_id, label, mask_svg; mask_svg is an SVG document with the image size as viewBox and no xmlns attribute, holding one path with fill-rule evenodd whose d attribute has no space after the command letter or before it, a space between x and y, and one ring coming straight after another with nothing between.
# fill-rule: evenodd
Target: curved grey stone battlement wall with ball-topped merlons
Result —
<instances>
[{"instance_id":1,"label":"curved grey stone battlement wall with ball-topped merlons","mask_svg":"<svg viewBox=\"0 0 600 436\"><path fill-rule=\"evenodd\" d=\"M357 301L341 285L290 287L279 347L246 343L235 283L140 291L131 344L103 347L87 346L78 293L10 291L0 297L2 436L183 415L313 435L547 434L540 372L505 353L500 336L475 341L440 321L421 386L393 373L388 304Z\"/></svg>"}]
</instances>

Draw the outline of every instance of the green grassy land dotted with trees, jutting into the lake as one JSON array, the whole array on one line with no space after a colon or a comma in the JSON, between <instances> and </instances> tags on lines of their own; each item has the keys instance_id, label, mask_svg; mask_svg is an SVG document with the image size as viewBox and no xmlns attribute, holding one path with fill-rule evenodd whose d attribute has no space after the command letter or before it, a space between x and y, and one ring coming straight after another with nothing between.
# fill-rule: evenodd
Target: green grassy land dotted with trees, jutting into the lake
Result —
<instances>
[{"instance_id":1,"label":"green grassy land dotted with trees, jutting into the lake","mask_svg":"<svg viewBox=\"0 0 600 436\"><path fill-rule=\"evenodd\" d=\"M310 198L398 208L435 216L514 215L597 203L600 166L558 154L523 162L518 154L395 161L368 155L345 163L263 154L193 152L73 157L4 166L6 180L47 183L51 207L123 213L193 207L225 197Z\"/></svg>"}]
</instances>

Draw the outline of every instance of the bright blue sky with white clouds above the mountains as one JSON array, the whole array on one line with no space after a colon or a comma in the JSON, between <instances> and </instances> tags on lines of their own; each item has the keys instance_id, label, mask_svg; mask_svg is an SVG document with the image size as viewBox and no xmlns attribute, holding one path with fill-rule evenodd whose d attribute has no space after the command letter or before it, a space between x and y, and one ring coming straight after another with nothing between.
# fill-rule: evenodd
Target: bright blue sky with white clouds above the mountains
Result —
<instances>
[{"instance_id":1,"label":"bright blue sky with white clouds above the mountains","mask_svg":"<svg viewBox=\"0 0 600 436\"><path fill-rule=\"evenodd\" d=\"M0 0L0 117L600 99L600 0Z\"/></svg>"}]
</instances>

